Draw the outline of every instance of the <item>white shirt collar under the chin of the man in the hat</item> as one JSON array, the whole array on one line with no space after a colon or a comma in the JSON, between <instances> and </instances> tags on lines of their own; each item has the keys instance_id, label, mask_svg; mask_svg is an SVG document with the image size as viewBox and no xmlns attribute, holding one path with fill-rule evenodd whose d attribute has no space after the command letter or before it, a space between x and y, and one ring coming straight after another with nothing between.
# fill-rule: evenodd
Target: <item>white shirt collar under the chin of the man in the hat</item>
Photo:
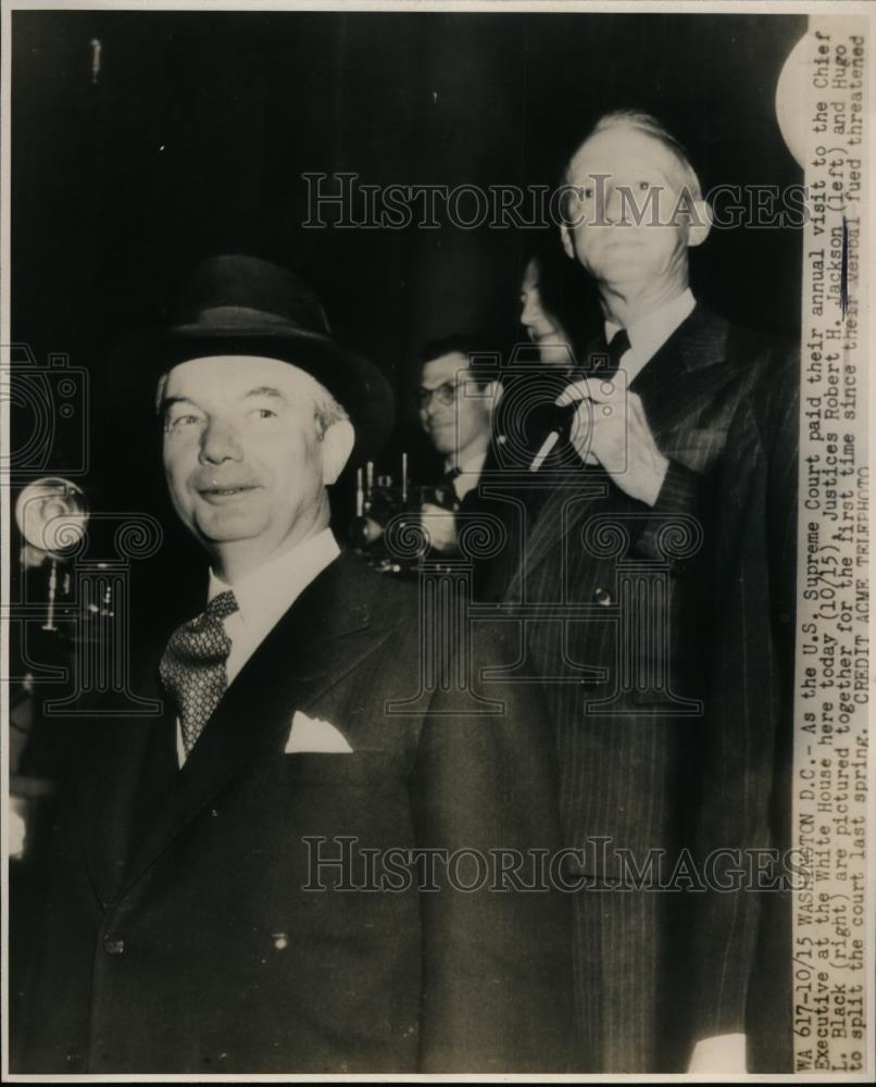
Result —
<instances>
[{"instance_id":1,"label":"white shirt collar under the chin of the man in the hat","mask_svg":"<svg viewBox=\"0 0 876 1087\"><path fill-rule=\"evenodd\" d=\"M324 528L289 551L268 559L235 585L226 585L211 570L207 599L210 601L220 592L231 589L240 621L253 633L264 636L317 574L339 554L340 548L331 529Z\"/></svg>"}]
</instances>

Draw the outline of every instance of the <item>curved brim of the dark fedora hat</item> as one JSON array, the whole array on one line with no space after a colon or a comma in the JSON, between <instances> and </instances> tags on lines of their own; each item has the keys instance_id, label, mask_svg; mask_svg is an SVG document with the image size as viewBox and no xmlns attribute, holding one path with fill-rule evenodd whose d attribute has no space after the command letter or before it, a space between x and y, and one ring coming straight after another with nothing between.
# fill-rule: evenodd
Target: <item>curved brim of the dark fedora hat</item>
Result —
<instances>
[{"instance_id":1,"label":"curved brim of the dark fedora hat","mask_svg":"<svg viewBox=\"0 0 876 1087\"><path fill-rule=\"evenodd\" d=\"M395 397L383 372L363 355L303 329L177 325L129 339L121 354L127 365L149 371L155 379L192 359L252 355L277 359L314 377L347 411L355 430L351 462L374 457L386 445L395 423Z\"/></svg>"}]
</instances>

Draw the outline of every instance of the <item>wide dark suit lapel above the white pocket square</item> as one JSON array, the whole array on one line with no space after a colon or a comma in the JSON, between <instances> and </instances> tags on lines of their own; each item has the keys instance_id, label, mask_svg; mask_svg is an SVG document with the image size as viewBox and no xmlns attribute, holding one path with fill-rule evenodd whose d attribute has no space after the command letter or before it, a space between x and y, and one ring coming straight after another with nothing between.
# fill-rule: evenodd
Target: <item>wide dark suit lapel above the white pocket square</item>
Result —
<instances>
[{"instance_id":1,"label":"wide dark suit lapel above the white pocket square","mask_svg":"<svg viewBox=\"0 0 876 1087\"><path fill-rule=\"evenodd\" d=\"M136 848L125 886L306 709L374 652L392 625L375 621L374 587L346 555L304 590L228 687Z\"/></svg>"}]
</instances>

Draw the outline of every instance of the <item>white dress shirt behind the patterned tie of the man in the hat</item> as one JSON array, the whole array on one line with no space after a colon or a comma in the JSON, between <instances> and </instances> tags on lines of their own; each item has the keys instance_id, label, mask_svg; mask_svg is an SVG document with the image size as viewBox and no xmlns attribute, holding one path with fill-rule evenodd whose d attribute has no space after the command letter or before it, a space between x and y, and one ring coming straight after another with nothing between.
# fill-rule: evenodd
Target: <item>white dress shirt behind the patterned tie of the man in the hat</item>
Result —
<instances>
[{"instance_id":1,"label":"white dress shirt behind the patterned tie of the man in the hat","mask_svg":"<svg viewBox=\"0 0 876 1087\"><path fill-rule=\"evenodd\" d=\"M276 626L280 616L339 554L340 548L331 535L331 529L324 528L289 551L283 551L275 558L268 559L235 585L226 585L212 570L210 571L208 603L220 592L228 589L234 592L237 600L237 611L223 620L225 633L231 640L231 649L225 663L229 685ZM176 753L182 766L186 761L186 749L178 719Z\"/></svg>"}]
</instances>

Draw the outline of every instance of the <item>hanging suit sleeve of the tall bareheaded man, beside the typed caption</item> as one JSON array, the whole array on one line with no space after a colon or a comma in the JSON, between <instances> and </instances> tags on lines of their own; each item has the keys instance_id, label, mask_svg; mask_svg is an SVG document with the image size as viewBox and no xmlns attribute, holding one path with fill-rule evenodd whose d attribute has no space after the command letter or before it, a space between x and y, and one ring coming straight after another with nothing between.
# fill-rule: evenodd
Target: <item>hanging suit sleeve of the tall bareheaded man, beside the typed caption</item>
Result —
<instances>
[{"instance_id":1,"label":"hanging suit sleeve of the tall bareheaded man, beside the typed caption","mask_svg":"<svg viewBox=\"0 0 876 1087\"><path fill-rule=\"evenodd\" d=\"M758 850L789 845L798 427L797 367L787 365L742 404L719 483L716 640L697 845L706 883L730 889L703 896L693 927L701 1038L747 1029L755 975L790 978L787 895L759 890L751 874ZM779 877L780 865L772 874ZM767 919L773 936L765 940ZM783 985L761 1008L773 1025L774 1060L790 1015Z\"/></svg>"}]
</instances>

